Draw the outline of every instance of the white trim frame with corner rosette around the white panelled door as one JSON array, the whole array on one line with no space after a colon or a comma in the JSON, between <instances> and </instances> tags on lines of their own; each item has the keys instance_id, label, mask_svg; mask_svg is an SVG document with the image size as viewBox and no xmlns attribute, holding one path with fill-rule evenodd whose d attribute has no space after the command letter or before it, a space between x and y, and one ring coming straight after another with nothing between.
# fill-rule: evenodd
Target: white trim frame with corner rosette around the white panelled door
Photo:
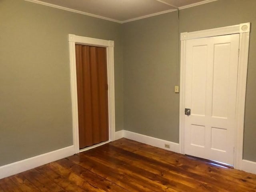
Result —
<instances>
[{"instance_id":1,"label":"white trim frame with corner rosette around the white panelled door","mask_svg":"<svg viewBox=\"0 0 256 192\"><path fill-rule=\"evenodd\" d=\"M246 96L246 79L250 40L250 23L243 23L234 26L227 26L196 32L184 32L180 34L180 153L184 154L184 98L185 98L185 55L186 40L240 34L239 58L238 58L238 82L236 100L236 130L234 143L234 168L242 169L243 140L244 140L244 109Z\"/></svg>"}]
</instances>

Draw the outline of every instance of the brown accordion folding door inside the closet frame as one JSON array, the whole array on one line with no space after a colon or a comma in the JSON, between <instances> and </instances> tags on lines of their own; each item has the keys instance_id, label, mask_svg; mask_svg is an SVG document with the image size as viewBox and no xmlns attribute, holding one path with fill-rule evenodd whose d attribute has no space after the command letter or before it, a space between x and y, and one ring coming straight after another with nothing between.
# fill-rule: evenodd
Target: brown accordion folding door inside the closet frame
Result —
<instances>
[{"instance_id":1,"label":"brown accordion folding door inside the closet frame","mask_svg":"<svg viewBox=\"0 0 256 192\"><path fill-rule=\"evenodd\" d=\"M76 45L79 148L108 140L106 48Z\"/></svg>"}]
</instances>

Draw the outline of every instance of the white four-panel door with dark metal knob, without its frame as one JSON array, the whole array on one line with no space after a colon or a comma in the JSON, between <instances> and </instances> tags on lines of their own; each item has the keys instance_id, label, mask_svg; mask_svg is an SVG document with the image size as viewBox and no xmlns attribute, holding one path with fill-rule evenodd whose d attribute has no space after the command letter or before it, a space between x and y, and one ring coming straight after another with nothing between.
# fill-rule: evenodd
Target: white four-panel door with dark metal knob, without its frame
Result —
<instances>
[{"instance_id":1,"label":"white four-panel door with dark metal knob, without its frame","mask_svg":"<svg viewBox=\"0 0 256 192\"><path fill-rule=\"evenodd\" d=\"M186 41L185 154L234 165L239 37Z\"/></svg>"}]
</instances>

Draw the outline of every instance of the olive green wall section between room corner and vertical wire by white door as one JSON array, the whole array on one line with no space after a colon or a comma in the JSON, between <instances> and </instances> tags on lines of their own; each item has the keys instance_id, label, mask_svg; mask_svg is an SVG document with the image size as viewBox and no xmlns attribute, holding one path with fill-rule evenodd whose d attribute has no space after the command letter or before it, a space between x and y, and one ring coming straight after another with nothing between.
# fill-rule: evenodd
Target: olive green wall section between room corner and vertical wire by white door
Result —
<instances>
[{"instance_id":1,"label":"olive green wall section between room corner and vertical wire by white door","mask_svg":"<svg viewBox=\"0 0 256 192\"><path fill-rule=\"evenodd\" d=\"M177 12L123 24L124 128L179 142Z\"/></svg>"}]
</instances>

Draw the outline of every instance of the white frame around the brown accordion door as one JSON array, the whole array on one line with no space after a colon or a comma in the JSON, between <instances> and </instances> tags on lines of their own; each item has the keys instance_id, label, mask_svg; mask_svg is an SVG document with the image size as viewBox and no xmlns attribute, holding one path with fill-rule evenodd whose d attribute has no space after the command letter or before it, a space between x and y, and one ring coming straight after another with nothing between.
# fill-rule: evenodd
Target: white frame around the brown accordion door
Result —
<instances>
[{"instance_id":1,"label":"white frame around the brown accordion door","mask_svg":"<svg viewBox=\"0 0 256 192\"><path fill-rule=\"evenodd\" d=\"M108 129L109 140L114 140L115 133L115 90L114 90L114 41L102 40L96 38L89 38L83 36L76 36L74 34L68 35L69 42L69 60L70 60L70 88L71 88L71 102L72 102L72 121L73 121L73 144L75 152L81 152L79 150L79 130L78 130L78 100L77 100L77 83L76 83L76 44L91 45L106 47L107 54L107 74L108 74ZM105 144L94 145L83 149L88 150L90 148Z\"/></svg>"}]
</instances>

